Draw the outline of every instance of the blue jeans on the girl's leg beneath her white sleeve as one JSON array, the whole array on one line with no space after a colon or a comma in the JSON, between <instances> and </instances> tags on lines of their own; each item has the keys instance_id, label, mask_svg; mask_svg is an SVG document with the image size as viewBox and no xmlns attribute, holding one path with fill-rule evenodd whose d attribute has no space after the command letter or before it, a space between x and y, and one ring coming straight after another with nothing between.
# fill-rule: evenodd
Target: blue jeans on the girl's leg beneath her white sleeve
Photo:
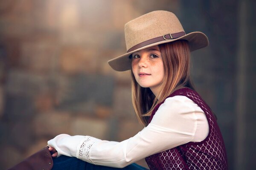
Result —
<instances>
[{"instance_id":1,"label":"blue jeans on the girl's leg beneath her white sleeve","mask_svg":"<svg viewBox=\"0 0 256 170\"><path fill-rule=\"evenodd\" d=\"M60 156L53 159L52 170L148 170L138 164L130 164L124 168L105 167L82 161L75 157Z\"/></svg>"}]
</instances>

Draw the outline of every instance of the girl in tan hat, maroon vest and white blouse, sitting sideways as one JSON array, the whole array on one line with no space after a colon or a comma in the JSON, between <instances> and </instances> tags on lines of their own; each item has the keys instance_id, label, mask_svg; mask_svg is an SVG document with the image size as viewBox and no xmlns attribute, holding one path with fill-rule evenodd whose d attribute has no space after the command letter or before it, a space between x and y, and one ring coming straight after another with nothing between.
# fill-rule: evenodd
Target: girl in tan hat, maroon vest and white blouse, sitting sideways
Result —
<instances>
[{"instance_id":1,"label":"girl in tan hat, maroon vest and white blouse, sitting sideways","mask_svg":"<svg viewBox=\"0 0 256 170\"><path fill-rule=\"evenodd\" d=\"M175 14L153 11L126 23L125 41L127 53L108 63L131 69L132 102L145 128L122 142L58 135L48 141L53 170L144 170L134 164L143 158L151 170L226 170L221 132L189 75L190 51L206 47L206 35L185 34Z\"/></svg>"}]
</instances>

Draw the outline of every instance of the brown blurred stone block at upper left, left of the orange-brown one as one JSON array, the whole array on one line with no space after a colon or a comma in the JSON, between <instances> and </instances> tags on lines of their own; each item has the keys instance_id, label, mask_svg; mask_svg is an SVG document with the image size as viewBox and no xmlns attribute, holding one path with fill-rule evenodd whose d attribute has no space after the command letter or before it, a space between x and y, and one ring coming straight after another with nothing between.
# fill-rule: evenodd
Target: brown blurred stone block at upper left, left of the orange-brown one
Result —
<instances>
[{"instance_id":1,"label":"brown blurred stone block at upper left, left of the orange-brown one","mask_svg":"<svg viewBox=\"0 0 256 170\"><path fill-rule=\"evenodd\" d=\"M54 34L33 35L23 40L20 47L20 66L41 74L58 68L58 41Z\"/></svg>"}]
</instances>

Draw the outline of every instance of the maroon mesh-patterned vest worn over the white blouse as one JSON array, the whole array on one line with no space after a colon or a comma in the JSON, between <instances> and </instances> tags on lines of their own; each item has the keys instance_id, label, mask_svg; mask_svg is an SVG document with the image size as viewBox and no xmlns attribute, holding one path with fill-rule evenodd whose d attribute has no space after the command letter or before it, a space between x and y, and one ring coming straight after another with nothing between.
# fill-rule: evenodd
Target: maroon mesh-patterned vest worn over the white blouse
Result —
<instances>
[{"instance_id":1,"label":"maroon mesh-patterned vest worn over the white blouse","mask_svg":"<svg viewBox=\"0 0 256 170\"><path fill-rule=\"evenodd\" d=\"M204 111L209 124L209 134L201 142L189 142L146 157L150 170L227 170L224 141L209 106L196 91L189 88L179 89L168 97L172 96L186 96ZM156 105L149 123L163 102Z\"/></svg>"}]
</instances>

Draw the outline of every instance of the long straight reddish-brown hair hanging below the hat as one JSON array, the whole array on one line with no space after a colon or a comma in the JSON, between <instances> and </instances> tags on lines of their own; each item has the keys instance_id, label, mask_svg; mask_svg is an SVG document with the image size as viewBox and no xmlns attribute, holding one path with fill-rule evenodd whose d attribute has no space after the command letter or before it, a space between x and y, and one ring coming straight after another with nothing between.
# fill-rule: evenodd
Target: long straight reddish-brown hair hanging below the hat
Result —
<instances>
[{"instance_id":1,"label":"long straight reddish-brown hair hanging below the hat","mask_svg":"<svg viewBox=\"0 0 256 170\"><path fill-rule=\"evenodd\" d=\"M158 96L150 88L141 87L131 71L132 103L137 119L143 126L148 125L148 118L154 107L172 94L173 91L188 87L195 90L190 78L190 50L186 40L176 40L158 45L163 58L164 78Z\"/></svg>"}]
</instances>

